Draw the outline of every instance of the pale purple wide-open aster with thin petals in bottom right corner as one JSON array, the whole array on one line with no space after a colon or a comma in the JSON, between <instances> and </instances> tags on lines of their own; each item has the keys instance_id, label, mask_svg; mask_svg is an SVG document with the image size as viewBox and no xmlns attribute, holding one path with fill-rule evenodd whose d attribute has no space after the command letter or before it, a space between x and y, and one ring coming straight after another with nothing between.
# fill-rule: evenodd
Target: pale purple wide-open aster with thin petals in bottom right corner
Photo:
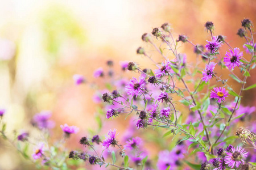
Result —
<instances>
[{"instance_id":1,"label":"pale purple wide-open aster with thin petals in bottom right corner","mask_svg":"<svg viewBox=\"0 0 256 170\"><path fill-rule=\"evenodd\" d=\"M238 146L237 148L232 148L231 152L227 152L225 156L225 163L234 168L235 166L238 168L240 164L245 163L243 159L247 157L248 152L245 151L244 148Z\"/></svg>"}]
</instances>

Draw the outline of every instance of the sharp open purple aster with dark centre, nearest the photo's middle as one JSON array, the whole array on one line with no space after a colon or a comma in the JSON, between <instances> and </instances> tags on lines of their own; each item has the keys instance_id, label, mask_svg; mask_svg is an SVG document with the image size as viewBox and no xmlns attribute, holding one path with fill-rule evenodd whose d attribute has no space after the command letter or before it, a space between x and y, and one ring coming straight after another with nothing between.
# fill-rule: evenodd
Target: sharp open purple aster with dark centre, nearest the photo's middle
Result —
<instances>
[{"instance_id":1,"label":"sharp open purple aster with dark centre, nearest the photo's middle","mask_svg":"<svg viewBox=\"0 0 256 170\"><path fill-rule=\"evenodd\" d=\"M144 86L146 82L144 81L145 78L141 76L139 77L139 81L133 77L133 79L130 80L130 82L126 85L125 91L127 92L127 95L136 95L141 94L144 90Z\"/></svg>"}]
</instances>

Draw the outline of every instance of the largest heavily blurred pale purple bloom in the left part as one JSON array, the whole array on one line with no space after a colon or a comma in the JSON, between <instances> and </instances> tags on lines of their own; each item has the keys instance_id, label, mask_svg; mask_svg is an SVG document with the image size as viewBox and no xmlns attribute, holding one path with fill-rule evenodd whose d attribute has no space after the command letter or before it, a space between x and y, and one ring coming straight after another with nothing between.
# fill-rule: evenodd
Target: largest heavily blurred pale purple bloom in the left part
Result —
<instances>
[{"instance_id":1,"label":"largest heavily blurred pale purple bloom in the left part","mask_svg":"<svg viewBox=\"0 0 256 170\"><path fill-rule=\"evenodd\" d=\"M55 123L49 120L51 116L52 113L50 111L37 113L32 119L32 124L37 126L39 129L52 129L55 126Z\"/></svg>"}]
</instances>

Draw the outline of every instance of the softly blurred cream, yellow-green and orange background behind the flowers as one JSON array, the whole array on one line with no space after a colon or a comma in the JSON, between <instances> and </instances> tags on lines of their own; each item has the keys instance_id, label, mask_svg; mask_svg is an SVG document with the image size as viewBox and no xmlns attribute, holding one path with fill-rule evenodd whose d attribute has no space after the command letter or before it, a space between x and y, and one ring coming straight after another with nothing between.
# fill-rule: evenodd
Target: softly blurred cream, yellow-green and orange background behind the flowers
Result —
<instances>
[{"instance_id":1,"label":"softly blurred cream, yellow-green and orange background behind the flowers","mask_svg":"<svg viewBox=\"0 0 256 170\"><path fill-rule=\"evenodd\" d=\"M32 116L48 110L56 122L53 141L61 136L58 135L61 124L79 126L80 133L69 141L73 143L69 146L75 148L77 139L98 125L94 118L97 104L92 101L94 91L90 86L75 86L73 74L82 74L88 82L101 84L108 78L95 79L93 71L98 67L106 69L109 59L114 61L115 74L121 72L119 61L137 62L142 69L151 67L152 63L138 56L136 50L139 46L150 49L150 45L142 42L142 34L165 22L171 23L176 37L183 33L195 44L205 44L210 35L204 23L212 21L214 35L224 35L231 46L242 48L245 40L236 33L244 18L256 24L255 0L2 0L0 107L7 109L7 134L11 135L14 130L32 130ZM222 46L224 56L228 46ZM187 54L189 62L195 60L191 45L185 44L180 51ZM155 61L161 61L152 49L148 52L155 54ZM245 58L250 57L244 54ZM253 82L255 75L251 73L247 83ZM236 91L240 88L237 83L232 86ZM246 92L242 103L255 105L255 90ZM121 120L123 117L105 123L111 124L109 128L118 127L118 131L122 131L128 120ZM102 134L106 131L108 129ZM159 149L151 148L153 153ZM34 168L0 139L0 169Z\"/></svg>"}]
</instances>

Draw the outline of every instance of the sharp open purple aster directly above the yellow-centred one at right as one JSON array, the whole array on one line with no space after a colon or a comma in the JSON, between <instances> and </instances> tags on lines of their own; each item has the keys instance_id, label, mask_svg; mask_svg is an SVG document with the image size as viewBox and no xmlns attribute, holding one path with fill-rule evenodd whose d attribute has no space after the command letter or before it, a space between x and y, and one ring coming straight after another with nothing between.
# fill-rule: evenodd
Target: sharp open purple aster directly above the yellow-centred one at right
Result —
<instances>
[{"instance_id":1,"label":"sharp open purple aster directly above the yellow-centred one at right","mask_svg":"<svg viewBox=\"0 0 256 170\"><path fill-rule=\"evenodd\" d=\"M234 69L234 67L239 67L242 62L240 59L243 56L243 52L240 52L239 48L234 48L234 52L232 49L229 50L230 53L226 52L224 57L225 66L229 67L229 70Z\"/></svg>"}]
</instances>

